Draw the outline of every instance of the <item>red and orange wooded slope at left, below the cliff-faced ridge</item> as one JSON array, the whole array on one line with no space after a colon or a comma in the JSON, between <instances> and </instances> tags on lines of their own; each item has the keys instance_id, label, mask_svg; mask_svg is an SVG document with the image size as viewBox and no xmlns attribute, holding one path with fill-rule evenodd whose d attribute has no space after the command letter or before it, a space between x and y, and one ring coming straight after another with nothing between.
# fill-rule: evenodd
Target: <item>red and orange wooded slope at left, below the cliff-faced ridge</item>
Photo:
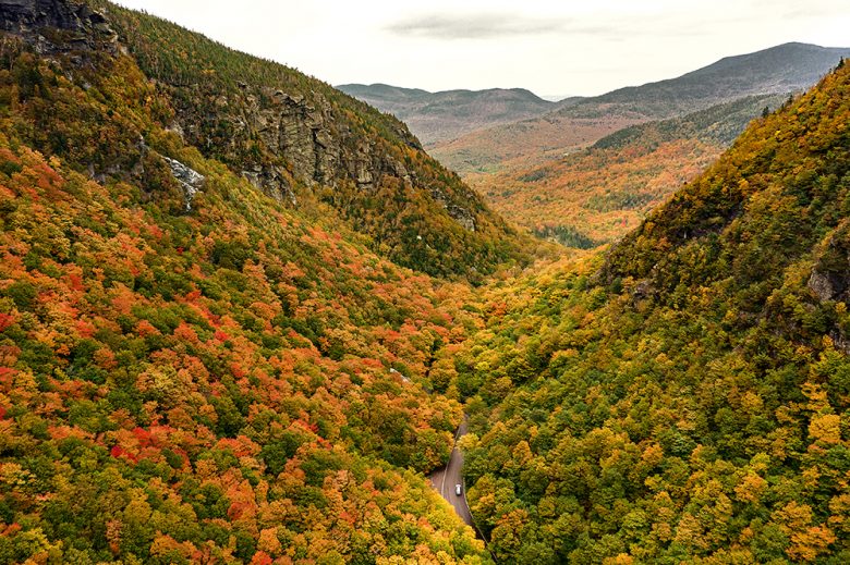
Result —
<instances>
[{"instance_id":1,"label":"red and orange wooded slope at left, below the cliff-faced ridge","mask_svg":"<svg viewBox=\"0 0 850 565\"><path fill-rule=\"evenodd\" d=\"M189 145L116 12L0 1L0 563L488 563L424 477L469 287Z\"/></svg>"}]
</instances>

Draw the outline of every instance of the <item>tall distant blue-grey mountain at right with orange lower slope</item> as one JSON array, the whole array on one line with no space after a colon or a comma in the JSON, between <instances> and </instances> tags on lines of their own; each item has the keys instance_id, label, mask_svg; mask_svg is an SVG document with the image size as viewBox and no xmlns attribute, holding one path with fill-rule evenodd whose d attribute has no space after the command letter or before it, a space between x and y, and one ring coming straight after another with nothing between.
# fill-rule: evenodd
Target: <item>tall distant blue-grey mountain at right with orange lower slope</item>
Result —
<instances>
[{"instance_id":1,"label":"tall distant blue-grey mountain at right with orange lower slope","mask_svg":"<svg viewBox=\"0 0 850 565\"><path fill-rule=\"evenodd\" d=\"M529 168L622 127L673 118L737 98L804 90L850 48L786 44L721 59L678 78L570 101L536 119L473 132L430 150L461 175Z\"/></svg>"}]
</instances>

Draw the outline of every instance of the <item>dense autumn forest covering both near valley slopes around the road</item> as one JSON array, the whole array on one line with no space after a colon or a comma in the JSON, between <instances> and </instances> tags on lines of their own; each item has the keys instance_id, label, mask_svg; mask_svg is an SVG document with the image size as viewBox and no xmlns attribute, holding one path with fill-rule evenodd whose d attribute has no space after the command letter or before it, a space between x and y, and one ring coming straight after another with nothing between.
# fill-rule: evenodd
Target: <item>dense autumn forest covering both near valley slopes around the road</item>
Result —
<instances>
[{"instance_id":1,"label":"dense autumn forest covering both near valley slopes around the road","mask_svg":"<svg viewBox=\"0 0 850 565\"><path fill-rule=\"evenodd\" d=\"M552 260L315 79L13 4L0 563L850 561L847 65ZM320 143L228 130L272 106Z\"/></svg>"}]
</instances>

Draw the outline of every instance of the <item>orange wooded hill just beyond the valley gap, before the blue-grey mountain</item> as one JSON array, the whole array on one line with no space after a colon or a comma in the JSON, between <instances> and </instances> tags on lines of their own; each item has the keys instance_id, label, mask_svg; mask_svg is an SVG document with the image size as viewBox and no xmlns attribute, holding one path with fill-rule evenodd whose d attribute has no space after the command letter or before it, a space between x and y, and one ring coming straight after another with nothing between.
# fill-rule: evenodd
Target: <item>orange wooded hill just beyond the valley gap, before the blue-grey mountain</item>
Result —
<instances>
[{"instance_id":1,"label":"orange wooded hill just beyond the valley gap, before the blue-grey mountain","mask_svg":"<svg viewBox=\"0 0 850 565\"><path fill-rule=\"evenodd\" d=\"M470 175L494 209L570 247L619 239L788 96L748 97L626 127L591 148L527 170Z\"/></svg>"}]
</instances>

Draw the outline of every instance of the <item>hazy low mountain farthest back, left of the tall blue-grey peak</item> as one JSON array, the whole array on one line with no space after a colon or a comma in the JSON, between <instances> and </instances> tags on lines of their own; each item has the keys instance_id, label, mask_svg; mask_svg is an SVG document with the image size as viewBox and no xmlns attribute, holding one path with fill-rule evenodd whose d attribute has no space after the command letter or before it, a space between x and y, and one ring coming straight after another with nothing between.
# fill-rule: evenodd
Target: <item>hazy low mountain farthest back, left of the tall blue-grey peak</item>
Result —
<instances>
[{"instance_id":1,"label":"hazy low mountain farthest back, left of the tall blue-grey peak","mask_svg":"<svg viewBox=\"0 0 850 565\"><path fill-rule=\"evenodd\" d=\"M338 86L403 121L425 147L475 130L544 114L558 105L523 88L428 93L384 84Z\"/></svg>"}]
</instances>

